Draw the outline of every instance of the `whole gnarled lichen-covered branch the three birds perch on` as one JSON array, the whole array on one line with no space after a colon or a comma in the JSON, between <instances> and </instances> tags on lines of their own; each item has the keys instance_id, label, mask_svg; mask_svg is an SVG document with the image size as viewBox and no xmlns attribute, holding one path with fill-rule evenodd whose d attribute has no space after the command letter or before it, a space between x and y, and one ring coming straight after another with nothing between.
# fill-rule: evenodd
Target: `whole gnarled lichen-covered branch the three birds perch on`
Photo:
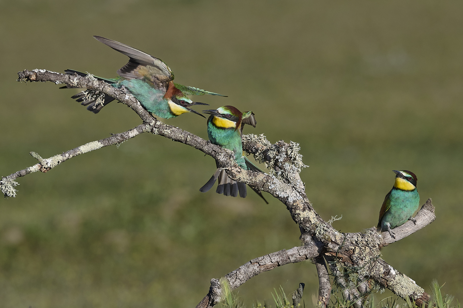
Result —
<instances>
[{"instance_id":1,"label":"whole gnarled lichen-covered branch the three birds perch on","mask_svg":"<svg viewBox=\"0 0 463 308\"><path fill-rule=\"evenodd\" d=\"M144 132L150 132L182 142L210 155L225 168L228 176L238 182L250 185L253 189L266 191L280 200L288 209L294 222L300 227L300 239L303 246L252 259L237 270L224 276L231 289L238 288L250 278L270 271L276 267L304 260L313 262L319 273L319 303L326 306L330 298L331 285L327 268L329 267L335 279L346 296L352 300L354 307L363 305L365 294L371 291L370 286L387 288L403 299L410 298L419 306L429 300L429 296L411 278L400 273L380 258L379 249L394 241L398 241L434 221L434 207L431 199L415 216L416 224L408 221L394 228L395 238L388 232L378 233L375 228L358 233L340 233L330 223L325 222L315 211L308 200L305 186L299 173L305 165L299 154L299 145L284 141L270 143L265 136L245 135L242 138L243 149L248 154L254 154L256 159L265 163L270 174L244 170L237 165L234 155L217 145L212 144L188 131L165 124L146 111L130 93L109 85L103 80L78 74L60 74L47 70L24 70L19 72L19 81L51 81L56 84L66 84L100 92L130 107L142 119L137 127L115 134L105 139L89 142L71 149L63 154L57 154L43 159L36 154L39 162L24 170L12 173L1 179L0 187L5 196L14 197L16 178L31 172L46 172L60 163L76 155L84 154L108 145L117 145ZM326 260L326 261L325 261ZM345 270L343 270L345 269ZM343 280L339 273L349 271L357 278L358 284ZM222 284L213 279L211 289L197 307L212 307L220 301Z\"/></svg>"}]
</instances>

